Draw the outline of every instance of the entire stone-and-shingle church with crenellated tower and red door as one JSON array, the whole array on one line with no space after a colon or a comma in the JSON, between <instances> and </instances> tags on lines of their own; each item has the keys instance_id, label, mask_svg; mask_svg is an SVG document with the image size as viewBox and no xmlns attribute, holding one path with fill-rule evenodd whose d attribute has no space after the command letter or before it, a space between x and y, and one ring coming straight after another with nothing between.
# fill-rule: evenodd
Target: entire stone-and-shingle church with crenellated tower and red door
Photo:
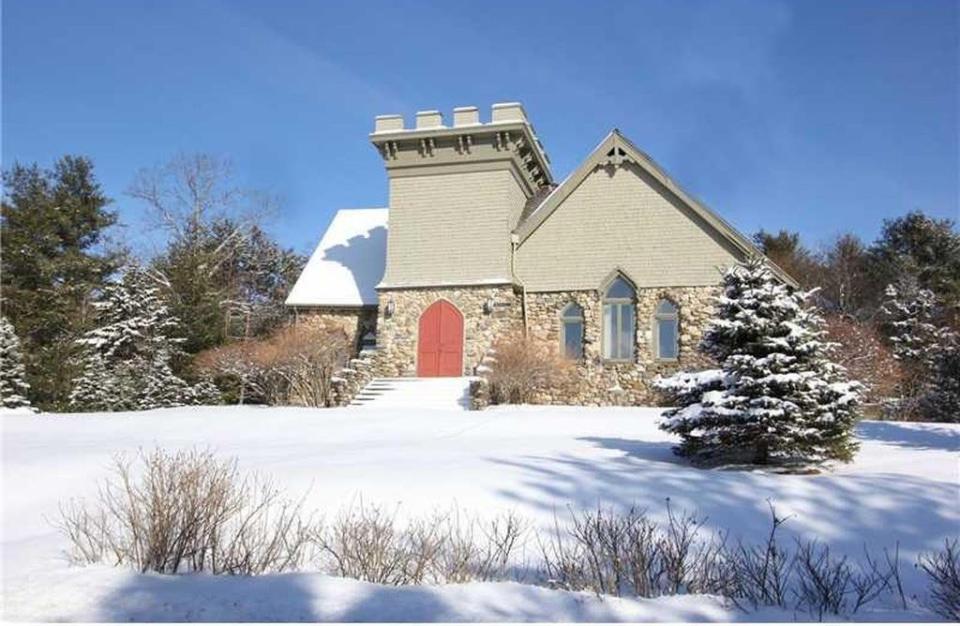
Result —
<instances>
[{"instance_id":1,"label":"entire stone-and-shingle church with crenellated tower and red door","mask_svg":"<svg viewBox=\"0 0 960 626\"><path fill-rule=\"evenodd\" d=\"M287 305L378 376L469 376L523 330L576 364L558 402L649 402L696 351L721 271L760 255L618 130L562 182L519 103L376 118L389 206L337 212ZM792 279L775 266L785 281Z\"/></svg>"}]
</instances>

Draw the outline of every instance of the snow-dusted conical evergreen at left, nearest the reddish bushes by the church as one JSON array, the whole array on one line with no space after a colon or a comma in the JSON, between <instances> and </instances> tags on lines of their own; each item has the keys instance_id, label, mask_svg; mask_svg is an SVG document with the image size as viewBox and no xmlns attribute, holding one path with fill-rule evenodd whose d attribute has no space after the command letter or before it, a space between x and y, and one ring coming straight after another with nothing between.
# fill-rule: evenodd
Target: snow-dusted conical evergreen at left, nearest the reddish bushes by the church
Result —
<instances>
[{"instance_id":1,"label":"snow-dusted conical evergreen at left, nearest the reddish bushes by the church","mask_svg":"<svg viewBox=\"0 0 960 626\"><path fill-rule=\"evenodd\" d=\"M178 321L143 269L128 268L94 306L98 327L77 340L83 368L74 380L71 406L145 410L210 399L206 386L195 389L173 373L170 361L183 341L175 336Z\"/></svg>"}]
</instances>

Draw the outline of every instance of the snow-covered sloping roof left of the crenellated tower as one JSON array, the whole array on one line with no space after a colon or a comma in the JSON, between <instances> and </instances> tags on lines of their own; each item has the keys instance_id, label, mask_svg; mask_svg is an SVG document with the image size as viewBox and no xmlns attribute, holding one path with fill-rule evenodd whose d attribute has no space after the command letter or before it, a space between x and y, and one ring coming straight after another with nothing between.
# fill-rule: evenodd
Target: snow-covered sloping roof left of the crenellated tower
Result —
<instances>
[{"instance_id":1,"label":"snow-covered sloping roof left of the crenellated tower","mask_svg":"<svg viewBox=\"0 0 960 626\"><path fill-rule=\"evenodd\" d=\"M287 296L288 306L377 304L387 259L387 209L341 209Z\"/></svg>"}]
</instances>

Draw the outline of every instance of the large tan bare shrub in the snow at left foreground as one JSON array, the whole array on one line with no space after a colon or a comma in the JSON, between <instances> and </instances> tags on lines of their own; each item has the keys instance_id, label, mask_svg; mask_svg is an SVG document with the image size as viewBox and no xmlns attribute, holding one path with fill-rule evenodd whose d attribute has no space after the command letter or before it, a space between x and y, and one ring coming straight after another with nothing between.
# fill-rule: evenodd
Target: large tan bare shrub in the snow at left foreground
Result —
<instances>
[{"instance_id":1,"label":"large tan bare shrub in the snow at left foreground","mask_svg":"<svg viewBox=\"0 0 960 626\"><path fill-rule=\"evenodd\" d=\"M109 560L141 572L260 574L299 566L308 545L301 504L268 481L241 476L208 451L116 457L90 505L61 507L60 529L80 562Z\"/></svg>"}]
</instances>

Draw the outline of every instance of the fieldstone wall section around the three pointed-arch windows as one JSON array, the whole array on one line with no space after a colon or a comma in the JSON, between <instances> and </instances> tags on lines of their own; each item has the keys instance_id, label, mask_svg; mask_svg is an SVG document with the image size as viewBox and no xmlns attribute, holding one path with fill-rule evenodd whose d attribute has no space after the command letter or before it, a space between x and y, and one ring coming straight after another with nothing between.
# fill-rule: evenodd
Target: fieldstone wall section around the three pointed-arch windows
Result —
<instances>
[{"instance_id":1,"label":"fieldstone wall section around the three pointed-arch windows","mask_svg":"<svg viewBox=\"0 0 960 626\"><path fill-rule=\"evenodd\" d=\"M675 287L637 290L637 334L634 360L611 363L602 358L603 298L598 291L527 294L527 328L536 339L559 346L560 312L570 302L583 308L584 357L574 380L561 389L545 390L544 404L636 405L656 404L650 382L658 374L710 366L697 344L713 315L719 287ZM653 320L657 303L668 299L679 307L679 357L659 361L653 350Z\"/></svg>"}]
</instances>

